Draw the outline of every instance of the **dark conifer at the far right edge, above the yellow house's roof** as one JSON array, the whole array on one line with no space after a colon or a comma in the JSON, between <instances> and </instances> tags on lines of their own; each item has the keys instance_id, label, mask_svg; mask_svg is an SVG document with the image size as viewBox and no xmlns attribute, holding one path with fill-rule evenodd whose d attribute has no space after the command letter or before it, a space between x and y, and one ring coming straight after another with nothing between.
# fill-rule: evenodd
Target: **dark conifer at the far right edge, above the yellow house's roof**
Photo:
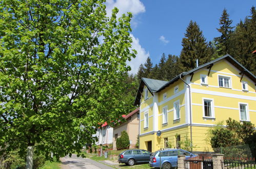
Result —
<instances>
[{"instance_id":1,"label":"dark conifer at the far right edge, above the yellow house's roof","mask_svg":"<svg viewBox=\"0 0 256 169\"><path fill-rule=\"evenodd\" d=\"M256 74L256 10L251 8L251 16L246 17L235 28L231 37L232 51L230 55L237 59L246 69Z\"/></svg>"}]
</instances>

